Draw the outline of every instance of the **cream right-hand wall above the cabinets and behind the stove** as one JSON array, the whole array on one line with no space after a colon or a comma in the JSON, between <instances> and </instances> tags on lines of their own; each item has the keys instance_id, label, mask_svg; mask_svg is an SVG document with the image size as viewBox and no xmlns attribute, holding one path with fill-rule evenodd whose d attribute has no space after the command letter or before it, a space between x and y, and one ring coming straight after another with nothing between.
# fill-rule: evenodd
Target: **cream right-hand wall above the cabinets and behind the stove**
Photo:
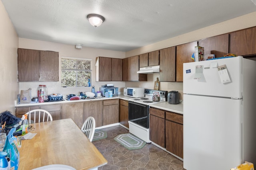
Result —
<instances>
[{"instance_id":1,"label":"cream right-hand wall above the cabinets and behind the stove","mask_svg":"<svg viewBox=\"0 0 256 170\"><path fill-rule=\"evenodd\" d=\"M212 37L212 36L220 35L224 33L229 33L232 31L253 27L253 26L256 26L256 12L253 12L244 16L240 16L232 20L210 25L208 27L204 27L202 29L198 29L189 33L185 33L177 37L166 39L164 41L159 41L157 43L150 44L132 51L128 51L126 52L126 57L140 55L140 54L148 53L150 51L155 51L158 49L164 49L164 48L172 47L179 44L197 41L200 39L204 39L204 38L208 38L208 37ZM126 82L126 87L141 86L144 88L153 89L154 81L156 81L156 77L159 77L159 74L148 74L148 82ZM182 82L161 82L161 79L160 79L159 88L160 90L166 90L166 91L178 90L180 92L180 97L181 98L183 97Z\"/></svg>"}]
</instances>

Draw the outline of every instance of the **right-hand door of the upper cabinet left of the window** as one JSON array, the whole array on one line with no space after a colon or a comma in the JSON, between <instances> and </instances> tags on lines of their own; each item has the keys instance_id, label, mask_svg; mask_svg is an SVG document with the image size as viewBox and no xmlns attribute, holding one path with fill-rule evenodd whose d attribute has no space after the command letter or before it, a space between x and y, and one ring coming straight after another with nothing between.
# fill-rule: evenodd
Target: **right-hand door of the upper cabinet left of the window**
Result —
<instances>
[{"instance_id":1,"label":"right-hand door of the upper cabinet left of the window","mask_svg":"<svg viewBox=\"0 0 256 170\"><path fill-rule=\"evenodd\" d=\"M40 51L40 81L59 81L59 53Z\"/></svg>"}]
</instances>

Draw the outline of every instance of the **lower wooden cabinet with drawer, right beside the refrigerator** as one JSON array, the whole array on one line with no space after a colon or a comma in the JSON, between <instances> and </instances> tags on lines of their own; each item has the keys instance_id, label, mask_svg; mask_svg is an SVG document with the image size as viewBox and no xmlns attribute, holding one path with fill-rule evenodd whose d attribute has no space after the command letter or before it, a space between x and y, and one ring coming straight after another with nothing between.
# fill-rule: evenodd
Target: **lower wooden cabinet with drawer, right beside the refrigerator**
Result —
<instances>
[{"instance_id":1,"label":"lower wooden cabinet with drawer, right beside the refrigerator","mask_svg":"<svg viewBox=\"0 0 256 170\"><path fill-rule=\"evenodd\" d=\"M166 112L166 150L183 158L183 115Z\"/></svg>"}]
</instances>

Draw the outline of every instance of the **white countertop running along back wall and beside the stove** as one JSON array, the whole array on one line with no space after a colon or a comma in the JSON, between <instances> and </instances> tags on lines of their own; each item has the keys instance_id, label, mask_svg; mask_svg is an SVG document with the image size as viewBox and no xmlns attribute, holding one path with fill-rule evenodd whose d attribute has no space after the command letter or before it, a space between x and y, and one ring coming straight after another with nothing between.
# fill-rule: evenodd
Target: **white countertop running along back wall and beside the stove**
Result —
<instances>
[{"instance_id":1,"label":"white countertop running along back wall and beside the stove","mask_svg":"<svg viewBox=\"0 0 256 170\"><path fill-rule=\"evenodd\" d=\"M22 106L40 106L40 105L49 105L49 104L66 104L66 103L73 103L73 102L88 102L88 101L96 101L96 100L111 100L111 99L122 99L122 100L129 100L131 97L124 96L122 94L118 96L113 96L112 98L96 98L96 99L85 99L85 100L63 100L63 101L56 101L56 102L43 102L43 103L36 103L31 102L29 104L17 104L16 101L14 102L15 107L22 107ZM163 109L166 111L172 111L175 113L183 114L183 102L180 104L168 104L168 102L160 102L156 104L150 104L150 107L155 107L158 109Z\"/></svg>"}]
</instances>

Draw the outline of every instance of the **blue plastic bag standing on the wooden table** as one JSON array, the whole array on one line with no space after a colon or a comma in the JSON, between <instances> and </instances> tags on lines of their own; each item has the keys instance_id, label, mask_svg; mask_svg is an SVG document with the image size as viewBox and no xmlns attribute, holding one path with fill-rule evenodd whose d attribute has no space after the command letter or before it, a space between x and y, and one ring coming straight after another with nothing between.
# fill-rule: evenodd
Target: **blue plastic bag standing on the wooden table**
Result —
<instances>
[{"instance_id":1,"label":"blue plastic bag standing on the wooden table","mask_svg":"<svg viewBox=\"0 0 256 170\"><path fill-rule=\"evenodd\" d=\"M18 142L16 137L13 136L13 133L16 131L16 128L12 128L7 135L6 142L4 145L4 152L7 153L7 156L11 160L10 169L18 170L20 153L18 150Z\"/></svg>"}]
</instances>

